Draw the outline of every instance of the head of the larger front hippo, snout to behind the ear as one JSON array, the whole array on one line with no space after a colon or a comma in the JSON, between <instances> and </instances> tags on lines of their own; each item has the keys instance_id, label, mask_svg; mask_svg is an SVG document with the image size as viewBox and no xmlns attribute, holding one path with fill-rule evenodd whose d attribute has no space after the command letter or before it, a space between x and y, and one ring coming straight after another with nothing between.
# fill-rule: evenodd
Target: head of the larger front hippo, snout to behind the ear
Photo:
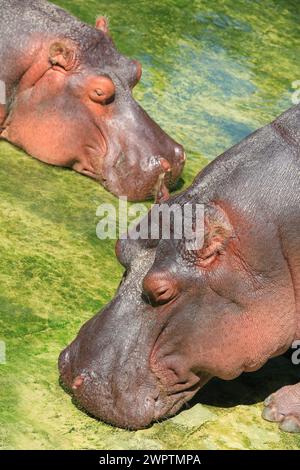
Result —
<instances>
[{"instance_id":1,"label":"head of the larger front hippo, snout to behind the ear","mask_svg":"<svg viewBox=\"0 0 300 470\"><path fill-rule=\"evenodd\" d=\"M169 204L204 204L202 246L161 234L119 240L115 298L60 356L63 383L106 422L147 426L211 377L254 371L291 344L294 296L277 230L264 215L258 229L251 201L238 207L224 187L222 202L208 200L200 181Z\"/></svg>"}]
</instances>

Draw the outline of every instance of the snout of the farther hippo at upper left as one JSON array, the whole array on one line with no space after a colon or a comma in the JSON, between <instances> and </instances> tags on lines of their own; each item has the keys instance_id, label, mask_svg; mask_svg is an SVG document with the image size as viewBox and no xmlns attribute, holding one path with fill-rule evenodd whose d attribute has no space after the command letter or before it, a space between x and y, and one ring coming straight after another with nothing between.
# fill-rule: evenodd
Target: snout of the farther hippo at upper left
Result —
<instances>
[{"instance_id":1,"label":"snout of the farther hippo at upper left","mask_svg":"<svg viewBox=\"0 0 300 470\"><path fill-rule=\"evenodd\" d=\"M185 164L183 147L133 100L126 100L126 108L119 103L118 109L117 116L102 123L109 136L101 170L104 186L131 201L167 199Z\"/></svg>"}]
</instances>

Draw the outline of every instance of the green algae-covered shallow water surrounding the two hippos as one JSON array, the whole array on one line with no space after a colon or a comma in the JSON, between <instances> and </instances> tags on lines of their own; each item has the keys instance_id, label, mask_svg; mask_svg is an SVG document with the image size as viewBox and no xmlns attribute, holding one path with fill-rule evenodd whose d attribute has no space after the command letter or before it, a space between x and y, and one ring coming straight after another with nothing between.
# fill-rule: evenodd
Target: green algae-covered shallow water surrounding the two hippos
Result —
<instances>
[{"instance_id":1,"label":"green algae-covered shallow water surrounding the two hippos","mask_svg":"<svg viewBox=\"0 0 300 470\"><path fill-rule=\"evenodd\" d=\"M142 62L135 96L185 146L185 186L295 98L298 0L55 3L90 23L108 15L119 49ZM262 400L299 377L287 357L211 383L189 409L147 430L112 428L76 408L58 384L57 357L118 285L114 242L95 232L98 205L117 201L3 142L0 159L0 448L300 447L299 436L260 418Z\"/></svg>"}]
</instances>

